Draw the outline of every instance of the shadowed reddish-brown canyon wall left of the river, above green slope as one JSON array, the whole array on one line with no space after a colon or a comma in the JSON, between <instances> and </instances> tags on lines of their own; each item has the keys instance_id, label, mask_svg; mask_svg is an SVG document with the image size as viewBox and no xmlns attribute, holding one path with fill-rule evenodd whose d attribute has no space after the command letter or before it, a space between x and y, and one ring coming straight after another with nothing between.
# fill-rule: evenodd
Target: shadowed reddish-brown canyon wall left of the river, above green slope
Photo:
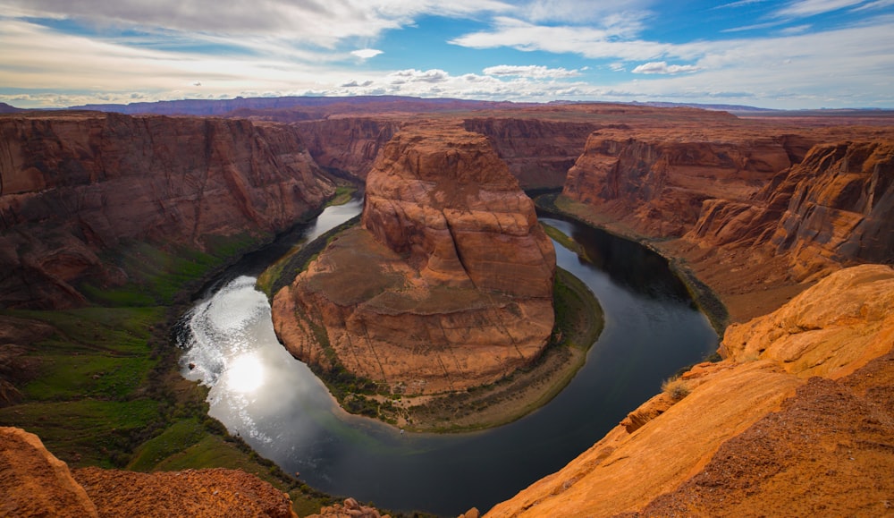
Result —
<instances>
[{"instance_id":1,"label":"shadowed reddish-brown canyon wall left of the river, above green slope","mask_svg":"<svg viewBox=\"0 0 894 518\"><path fill-rule=\"evenodd\" d=\"M75 284L121 284L128 240L204 250L272 235L333 184L287 125L63 113L0 117L0 305L66 307Z\"/></svg>"}]
</instances>

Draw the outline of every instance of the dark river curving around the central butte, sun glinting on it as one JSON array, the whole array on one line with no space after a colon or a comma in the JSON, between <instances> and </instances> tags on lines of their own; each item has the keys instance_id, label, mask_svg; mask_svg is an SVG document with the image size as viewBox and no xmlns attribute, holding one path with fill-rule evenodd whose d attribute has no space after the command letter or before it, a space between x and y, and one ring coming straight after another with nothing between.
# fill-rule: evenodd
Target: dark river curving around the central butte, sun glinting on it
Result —
<instances>
[{"instance_id":1,"label":"dark river curving around the central butte, sun glinting on it","mask_svg":"<svg viewBox=\"0 0 894 518\"><path fill-rule=\"evenodd\" d=\"M486 511L561 469L657 394L663 379L717 345L664 259L586 225L541 217L585 247L592 262L555 243L557 262L589 286L605 313L603 333L569 386L536 412L485 431L402 433L350 415L279 344L255 281L292 243L360 209L356 200L326 208L273 248L249 254L209 284L181 323L181 372L210 386L209 414L314 488L394 511Z\"/></svg>"}]
</instances>

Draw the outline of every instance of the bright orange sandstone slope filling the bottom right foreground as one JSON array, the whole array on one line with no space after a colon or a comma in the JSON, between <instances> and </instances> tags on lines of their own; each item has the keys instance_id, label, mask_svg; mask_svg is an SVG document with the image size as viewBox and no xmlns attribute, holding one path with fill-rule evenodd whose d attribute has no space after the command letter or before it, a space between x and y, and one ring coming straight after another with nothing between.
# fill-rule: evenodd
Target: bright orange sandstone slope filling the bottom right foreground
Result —
<instances>
[{"instance_id":1,"label":"bright orange sandstone slope filling the bottom right foreground","mask_svg":"<svg viewBox=\"0 0 894 518\"><path fill-rule=\"evenodd\" d=\"M894 268L853 267L731 327L729 358L681 377L688 395L486 516L888 513L892 297Z\"/></svg>"}]
</instances>

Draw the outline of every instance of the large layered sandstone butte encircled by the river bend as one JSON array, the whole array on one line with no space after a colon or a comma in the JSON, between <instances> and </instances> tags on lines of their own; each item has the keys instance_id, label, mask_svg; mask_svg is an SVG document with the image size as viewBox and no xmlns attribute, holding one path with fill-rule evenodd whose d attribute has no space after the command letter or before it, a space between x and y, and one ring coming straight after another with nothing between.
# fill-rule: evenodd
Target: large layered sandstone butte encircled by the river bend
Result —
<instances>
[{"instance_id":1,"label":"large layered sandstone butte encircled by the river bend","mask_svg":"<svg viewBox=\"0 0 894 518\"><path fill-rule=\"evenodd\" d=\"M544 349L554 271L534 203L485 136L422 124L367 175L362 227L275 294L274 328L325 369L405 394L462 390Z\"/></svg>"}]
</instances>

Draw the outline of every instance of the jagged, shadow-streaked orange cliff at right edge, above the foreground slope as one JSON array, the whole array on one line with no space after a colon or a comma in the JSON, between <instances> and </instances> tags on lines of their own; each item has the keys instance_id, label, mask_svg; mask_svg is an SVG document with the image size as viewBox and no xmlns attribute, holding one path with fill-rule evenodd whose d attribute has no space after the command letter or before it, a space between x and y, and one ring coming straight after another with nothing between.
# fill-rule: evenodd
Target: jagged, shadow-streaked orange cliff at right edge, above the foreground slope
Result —
<instances>
[{"instance_id":1,"label":"jagged, shadow-streaked orange cliff at right edge, above the foreground slope","mask_svg":"<svg viewBox=\"0 0 894 518\"><path fill-rule=\"evenodd\" d=\"M708 200L691 242L788 258L796 281L894 260L894 145L822 144L751 200Z\"/></svg>"}]
</instances>

